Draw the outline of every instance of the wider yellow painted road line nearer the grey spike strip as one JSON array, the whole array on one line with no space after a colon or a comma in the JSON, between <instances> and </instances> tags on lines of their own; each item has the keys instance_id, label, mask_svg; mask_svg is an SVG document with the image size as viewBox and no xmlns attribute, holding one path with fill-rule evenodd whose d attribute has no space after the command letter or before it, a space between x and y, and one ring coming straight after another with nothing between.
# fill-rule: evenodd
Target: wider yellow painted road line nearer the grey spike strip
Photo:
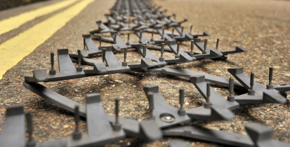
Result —
<instances>
[{"instance_id":1,"label":"wider yellow painted road line nearer the grey spike strip","mask_svg":"<svg viewBox=\"0 0 290 147\"><path fill-rule=\"evenodd\" d=\"M7 70L34 51L93 1L95 0L82 0L1 44L0 80Z\"/></svg>"}]
</instances>

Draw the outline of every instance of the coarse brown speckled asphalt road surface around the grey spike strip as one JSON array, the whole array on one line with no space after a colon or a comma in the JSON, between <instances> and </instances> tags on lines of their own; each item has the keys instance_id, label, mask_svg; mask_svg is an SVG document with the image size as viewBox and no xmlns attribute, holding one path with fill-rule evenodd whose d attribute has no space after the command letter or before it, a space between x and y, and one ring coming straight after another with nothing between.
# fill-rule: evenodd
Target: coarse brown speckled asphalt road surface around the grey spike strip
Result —
<instances>
[{"instance_id":1,"label":"coarse brown speckled asphalt road surface around the grey spike strip","mask_svg":"<svg viewBox=\"0 0 290 147\"><path fill-rule=\"evenodd\" d=\"M58 2L62 1L51 0L0 11L0 22L6 18ZM114 0L95 0L92 3L88 3L87 6L83 6L84 9L82 11L75 14L75 17L68 19L67 23L64 22L65 25L63 27L55 26L51 35L47 33L50 27L43 28L45 32L41 34L27 30L33 30L41 22L50 20L50 18L61 12L66 12L67 9L77 5L78 2L63 5L56 11L37 16L20 27L0 35L1 54L4 53L4 49L1 47L7 41L10 42L4 46L8 47L5 48L6 50L9 49L14 54L23 53L23 57L16 57L15 55L15 58L10 57L10 59L7 59L8 57L4 56L0 59L2 62L0 65L3 67L6 67L6 64L10 64L8 61L13 61L16 64L11 69L7 66L6 73L6 70L2 69L4 71L3 74L5 74L0 80L0 126L4 122L7 106L23 103L24 109L30 110L32 113L33 136L37 142L54 140L72 134L75 126L73 114L25 89L22 86L22 82L24 76L32 74L32 70L48 70L50 68L50 52L56 53L58 48L68 48L69 52L76 52L78 49L82 49L82 34L97 29L95 21L102 20L105 22L104 14L109 13L109 9L114 5L114 2ZM234 50L238 45L248 49L246 53L228 55L226 61L203 60L172 67L222 77L230 77L227 68L243 67L244 73L247 75L250 75L250 72L254 72L255 81L263 86L268 83L269 67L274 67L272 83L274 85L290 83L290 1L155 0L153 3L162 5L162 9L166 8L168 10L167 14L176 13L178 21L188 18L189 21L183 24L185 31L189 31L191 25L193 25L193 32L202 33L203 31L208 31L211 34L210 37L206 37L208 38L209 48L214 48L216 39L219 38L220 45L218 49L220 51ZM69 11L68 13L73 12ZM54 21L53 19L51 20ZM56 22L54 21L53 24L56 24ZM19 39L14 39L21 37L23 33L30 34L25 35L26 38L24 37L20 41ZM42 42L31 41L31 38L37 39L37 35L41 37L47 36L44 36ZM121 36L124 39L126 38L125 34ZM148 37L150 37L149 34ZM137 37L132 35L132 41L134 39L137 41ZM204 39L205 37L202 37L202 40ZM98 45L97 41L96 44ZM14 46L10 48L9 45ZM29 51L24 54L22 50L28 45L32 48L29 48ZM184 42L181 46L189 48L190 42ZM140 56L136 53L137 51L134 51L134 49L128 51L127 62L134 63L138 61L136 58L140 58ZM159 54L158 51L153 51L153 53ZM119 53L116 56L119 60L122 60L123 54ZM166 57L169 56L166 55ZM101 57L98 56L96 59L101 59ZM57 69L57 61L55 60L55 62L55 68ZM89 68L89 66L84 66L84 68ZM116 82L119 80L123 82ZM85 104L85 94L100 93L104 109L109 114L114 113L114 100L120 97L120 116L140 121L146 119L149 113L148 101L143 92L143 86L146 85L159 85L160 93L169 104L175 107L178 107L179 87L185 87L186 109L200 106L204 103L201 94L198 93L198 90L187 78L165 74L130 72L41 84L82 104ZM226 87L218 85L212 85L212 87L224 98L228 95ZM235 94L242 93L235 91ZM290 93L287 92L287 94L287 103L285 104L245 105L234 110L235 118L231 121L196 121L192 125L246 135L245 124L258 122L272 127L273 139L290 142ZM85 119L82 119L80 128L83 133L86 132ZM164 137L155 142L125 139L105 146L129 144L131 146L166 146L172 139L181 138ZM223 146L193 139L184 140L191 146Z\"/></svg>"}]
</instances>

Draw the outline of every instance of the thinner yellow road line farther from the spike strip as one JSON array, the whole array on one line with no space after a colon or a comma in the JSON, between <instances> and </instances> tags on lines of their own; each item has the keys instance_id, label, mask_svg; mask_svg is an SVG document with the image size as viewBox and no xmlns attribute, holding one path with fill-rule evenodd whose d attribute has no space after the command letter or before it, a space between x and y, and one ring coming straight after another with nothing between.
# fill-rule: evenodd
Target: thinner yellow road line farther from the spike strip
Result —
<instances>
[{"instance_id":1,"label":"thinner yellow road line farther from the spike strip","mask_svg":"<svg viewBox=\"0 0 290 147\"><path fill-rule=\"evenodd\" d=\"M53 11L65 8L78 0L65 0L58 2L52 5L47 5L32 11L24 12L19 15L4 19L0 21L0 35L7 33L11 30L14 30L20 27L22 24L25 24L28 21L34 20L37 17L47 15Z\"/></svg>"}]
</instances>

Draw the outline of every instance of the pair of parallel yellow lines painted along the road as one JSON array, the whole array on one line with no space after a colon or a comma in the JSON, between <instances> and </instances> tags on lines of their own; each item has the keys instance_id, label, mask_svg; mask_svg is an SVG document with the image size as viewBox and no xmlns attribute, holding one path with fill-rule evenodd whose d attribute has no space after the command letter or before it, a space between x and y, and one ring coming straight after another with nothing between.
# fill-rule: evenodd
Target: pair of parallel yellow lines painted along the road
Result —
<instances>
[{"instance_id":1,"label":"pair of parallel yellow lines painted along the road","mask_svg":"<svg viewBox=\"0 0 290 147\"><path fill-rule=\"evenodd\" d=\"M30 12L0 21L0 35L18 28L20 25L33 20L35 17L46 15L78 0L66 0L53 5L45 6ZM82 0L64 11L35 24L15 37L0 44L0 80L7 70L15 66L36 47L50 38L56 31L66 25L68 21L78 15L84 8L95 0ZM3 27L5 26L5 27ZM2 28L3 27L3 28Z\"/></svg>"}]
</instances>

